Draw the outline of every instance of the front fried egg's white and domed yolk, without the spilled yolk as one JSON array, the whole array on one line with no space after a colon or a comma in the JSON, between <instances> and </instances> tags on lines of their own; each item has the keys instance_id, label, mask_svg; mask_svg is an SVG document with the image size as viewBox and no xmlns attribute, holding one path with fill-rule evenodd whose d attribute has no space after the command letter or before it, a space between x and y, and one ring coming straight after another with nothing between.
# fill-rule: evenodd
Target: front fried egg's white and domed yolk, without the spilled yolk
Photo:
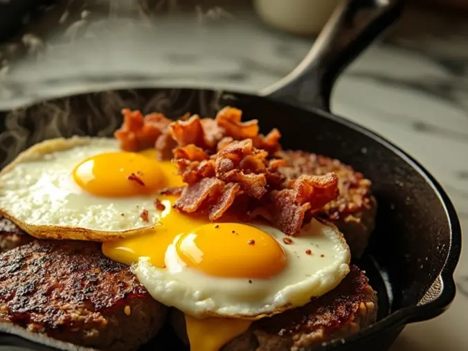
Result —
<instances>
[{"instance_id":1,"label":"front fried egg's white and domed yolk, without the spilled yolk","mask_svg":"<svg viewBox=\"0 0 468 351\"><path fill-rule=\"evenodd\" d=\"M334 289L350 251L336 227L316 219L296 237L261 222L222 222L174 237L164 268L153 260L143 256L133 270L161 303L195 318L257 319Z\"/></svg>"}]
</instances>

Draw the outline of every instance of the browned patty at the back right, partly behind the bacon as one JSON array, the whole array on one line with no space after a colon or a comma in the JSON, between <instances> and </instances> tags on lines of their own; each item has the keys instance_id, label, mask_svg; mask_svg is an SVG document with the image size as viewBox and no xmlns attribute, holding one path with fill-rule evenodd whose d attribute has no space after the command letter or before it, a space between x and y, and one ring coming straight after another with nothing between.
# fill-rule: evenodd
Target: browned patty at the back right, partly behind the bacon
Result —
<instances>
[{"instance_id":1,"label":"browned patty at the back right, partly behind the bacon","mask_svg":"<svg viewBox=\"0 0 468 351\"><path fill-rule=\"evenodd\" d=\"M371 182L349 165L330 157L303 151L281 151L278 156L287 161L280 172L289 179L296 179L302 174L323 175L328 172L338 176L340 195L325 205L319 215L339 228L350 246L352 257L360 258L374 230L377 215L377 201L370 190Z\"/></svg>"}]
</instances>

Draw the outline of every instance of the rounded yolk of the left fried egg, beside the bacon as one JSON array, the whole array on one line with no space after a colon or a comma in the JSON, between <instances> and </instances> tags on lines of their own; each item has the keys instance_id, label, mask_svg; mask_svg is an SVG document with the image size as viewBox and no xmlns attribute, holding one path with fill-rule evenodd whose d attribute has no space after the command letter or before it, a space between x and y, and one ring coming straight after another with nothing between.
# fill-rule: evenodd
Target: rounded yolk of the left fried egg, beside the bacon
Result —
<instances>
[{"instance_id":1,"label":"rounded yolk of the left fried egg, beside the bacon","mask_svg":"<svg viewBox=\"0 0 468 351\"><path fill-rule=\"evenodd\" d=\"M161 163L134 152L107 152L91 156L73 170L73 179L96 196L148 195L168 182Z\"/></svg>"}]
</instances>

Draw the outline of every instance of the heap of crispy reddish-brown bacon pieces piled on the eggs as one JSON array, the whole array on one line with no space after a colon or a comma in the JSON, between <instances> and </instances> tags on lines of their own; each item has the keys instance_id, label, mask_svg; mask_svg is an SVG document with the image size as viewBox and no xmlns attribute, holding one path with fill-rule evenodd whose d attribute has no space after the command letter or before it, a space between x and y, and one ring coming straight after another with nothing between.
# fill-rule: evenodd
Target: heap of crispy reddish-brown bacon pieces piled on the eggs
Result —
<instances>
[{"instance_id":1,"label":"heap of crispy reddish-brown bacon pieces piled on the eggs","mask_svg":"<svg viewBox=\"0 0 468 351\"><path fill-rule=\"evenodd\" d=\"M225 107L215 119L186 115L174 122L163 114L143 116L128 109L123 115L123 126L115 133L123 150L155 147L160 159L172 158L177 165L187 183L174 204L181 212L204 211L214 221L227 210L237 210L241 217L265 217L294 235L310 215L339 195L338 177L332 172L285 181L278 172L285 160L276 156L280 132L259 134L258 120L242 122L239 109Z\"/></svg>"}]
</instances>

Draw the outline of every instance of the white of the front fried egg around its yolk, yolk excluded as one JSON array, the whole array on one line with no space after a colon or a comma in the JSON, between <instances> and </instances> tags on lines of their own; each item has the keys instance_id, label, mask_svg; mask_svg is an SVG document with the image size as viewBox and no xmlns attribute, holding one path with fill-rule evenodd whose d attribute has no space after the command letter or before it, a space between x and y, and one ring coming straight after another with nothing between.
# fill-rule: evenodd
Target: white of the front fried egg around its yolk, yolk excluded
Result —
<instances>
[{"instance_id":1,"label":"white of the front fried egg around its yolk, yolk excluded","mask_svg":"<svg viewBox=\"0 0 468 351\"><path fill-rule=\"evenodd\" d=\"M332 224L313 219L292 238L291 244L282 241L285 234L276 228L260 223L251 225L269 233L287 253L287 266L278 276L269 279L208 276L186 267L177 257L174 244L166 251L165 269L140 258L132 271L155 300L196 318L262 318L303 306L310 298L334 289L349 271L348 244Z\"/></svg>"}]
</instances>

